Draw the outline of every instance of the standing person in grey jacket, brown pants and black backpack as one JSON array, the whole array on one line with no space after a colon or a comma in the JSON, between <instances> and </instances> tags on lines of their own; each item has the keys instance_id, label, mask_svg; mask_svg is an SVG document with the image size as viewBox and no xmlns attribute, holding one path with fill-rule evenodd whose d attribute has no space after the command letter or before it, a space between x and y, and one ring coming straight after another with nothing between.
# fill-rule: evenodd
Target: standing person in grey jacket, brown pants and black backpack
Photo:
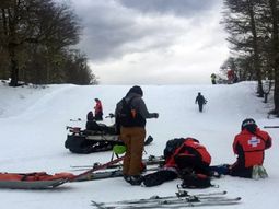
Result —
<instances>
[{"instance_id":1,"label":"standing person in grey jacket, brown pants and black backpack","mask_svg":"<svg viewBox=\"0 0 279 209\"><path fill-rule=\"evenodd\" d=\"M140 86L132 86L116 105L116 127L120 127L120 140L127 147L124 158L123 174L126 182L140 185L141 160L146 138L146 119L158 118L158 113L149 113Z\"/></svg>"}]
</instances>

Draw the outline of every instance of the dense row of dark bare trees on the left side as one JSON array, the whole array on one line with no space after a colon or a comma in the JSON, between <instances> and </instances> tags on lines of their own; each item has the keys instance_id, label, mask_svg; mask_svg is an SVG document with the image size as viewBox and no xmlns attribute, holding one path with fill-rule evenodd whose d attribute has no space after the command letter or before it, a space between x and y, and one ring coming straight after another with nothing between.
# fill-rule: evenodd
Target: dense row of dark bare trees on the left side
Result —
<instances>
[{"instance_id":1,"label":"dense row of dark bare trees on the left side","mask_svg":"<svg viewBox=\"0 0 279 209\"><path fill-rule=\"evenodd\" d=\"M72 47L81 26L66 3L1 0L0 78L36 84L96 84L86 56Z\"/></svg>"}]
</instances>

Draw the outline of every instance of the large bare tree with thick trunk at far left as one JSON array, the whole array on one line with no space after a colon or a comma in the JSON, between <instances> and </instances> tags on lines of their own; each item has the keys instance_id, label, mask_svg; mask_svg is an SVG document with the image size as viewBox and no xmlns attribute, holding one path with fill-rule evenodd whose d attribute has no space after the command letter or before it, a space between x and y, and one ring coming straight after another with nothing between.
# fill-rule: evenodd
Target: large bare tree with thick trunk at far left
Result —
<instances>
[{"instance_id":1,"label":"large bare tree with thick trunk at far left","mask_svg":"<svg viewBox=\"0 0 279 209\"><path fill-rule=\"evenodd\" d=\"M21 53L31 47L59 50L79 40L80 26L66 4L51 0L12 0L1 9L1 37L10 60L11 86L19 82Z\"/></svg>"}]
</instances>

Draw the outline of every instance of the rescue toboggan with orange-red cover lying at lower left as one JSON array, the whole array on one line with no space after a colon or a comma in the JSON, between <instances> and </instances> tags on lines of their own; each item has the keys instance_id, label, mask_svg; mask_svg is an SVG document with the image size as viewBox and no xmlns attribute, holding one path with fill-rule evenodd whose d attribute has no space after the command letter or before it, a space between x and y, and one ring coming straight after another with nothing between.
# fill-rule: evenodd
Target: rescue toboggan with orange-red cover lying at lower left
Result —
<instances>
[{"instance_id":1,"label":"rescue toboggan with orange-red cover lying at lower left","mask_svg":"<svg viewBox=\"0 0 279 209\"><path fill-rule=\"evenodd\" d=\"M70 173L54 175L45 172L35 173L0 173L0 188L11 189L48 189L58 187L74 177Z\"/></svg>"}]
</instances>

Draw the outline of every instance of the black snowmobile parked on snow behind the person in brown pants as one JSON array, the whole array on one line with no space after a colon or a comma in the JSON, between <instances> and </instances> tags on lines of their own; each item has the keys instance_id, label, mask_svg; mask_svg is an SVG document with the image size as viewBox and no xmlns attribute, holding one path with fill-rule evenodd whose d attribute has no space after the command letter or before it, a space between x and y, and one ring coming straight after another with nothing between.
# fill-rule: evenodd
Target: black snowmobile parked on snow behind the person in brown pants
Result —
<instances>
[{"instance_id":1,"label":"black snowmobile parked on snow behind the person in brown pants","mask_svg":"<svg viewBox=\"0 0 279 209\"><path fill-rule=\"evenodd\" d=\"M107 117L114 117L114 115L109 114ZM84 130L80 127L70 126L67 126L67 130L69 130L69 133L65 141L65 148L73 153L88 154L107 151L112 150L115 144L124 144L118 138L115 125L107 126L95 120L88 120ZM149 136L144 144L149 144L152 141L153 138Z\"/></svg>"}]
</instances>

